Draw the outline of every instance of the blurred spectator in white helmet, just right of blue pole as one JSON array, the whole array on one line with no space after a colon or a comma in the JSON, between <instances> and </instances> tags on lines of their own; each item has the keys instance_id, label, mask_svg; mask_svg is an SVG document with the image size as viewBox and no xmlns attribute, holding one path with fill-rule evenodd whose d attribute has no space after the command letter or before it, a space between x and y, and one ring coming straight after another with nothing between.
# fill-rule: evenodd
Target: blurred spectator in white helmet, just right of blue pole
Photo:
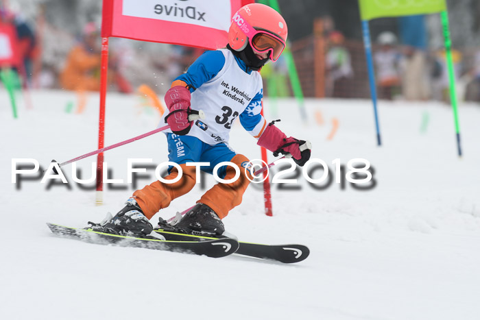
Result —
<instances>
[{"instance_id":1,"label":"blurred spectator in white helmet, just right of blue pole","mask_svg":"<svg viewBox=\"0 0 480 320\"><path fill-rule=\"evenodd\" d=\"M374 54L376 81L379 99L392 100L400 91L400 52L396 49L397 38L392 32L382 32L377 38L380 50Z\"/></svg>"}]
</instances>

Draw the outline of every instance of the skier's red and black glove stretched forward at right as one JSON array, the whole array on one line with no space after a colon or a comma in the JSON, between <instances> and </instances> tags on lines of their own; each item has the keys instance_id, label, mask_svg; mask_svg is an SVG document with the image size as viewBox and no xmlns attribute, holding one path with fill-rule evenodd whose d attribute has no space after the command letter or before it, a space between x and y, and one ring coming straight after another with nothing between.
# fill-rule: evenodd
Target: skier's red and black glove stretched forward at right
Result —
<instances>
[{"instance_id":1,"label":"skier's red and black glove stretched forward at right","mask_svg":"<svg viewBox=\"0 0 480 320\"><path fill-rule=\"evenodd\" d=\"M293 157L293 161L302 167L309 159L311 154L311 143L305 140L298 140L288 137L274 125L272 121L267 125L265 131L260 136L257 145L269 149L278 156L282 153L286 158Z\"/></svg>"}]
</instances>

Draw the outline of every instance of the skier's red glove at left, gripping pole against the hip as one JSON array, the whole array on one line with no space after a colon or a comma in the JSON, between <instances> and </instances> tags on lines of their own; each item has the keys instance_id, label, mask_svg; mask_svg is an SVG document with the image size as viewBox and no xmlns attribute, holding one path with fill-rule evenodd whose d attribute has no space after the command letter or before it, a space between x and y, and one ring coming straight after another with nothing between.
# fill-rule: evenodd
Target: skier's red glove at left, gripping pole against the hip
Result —
<instances>
[{"instance_id":1,"label":"skier's red glove at left, gripping pole against the hip","mask_svg":"<svg viewBox=\"0 0 480 320\"><path fill-rule=\"evenodd\" d=\"M165 116L165 123L168 123L171 131L179 136L188 134L193 125L193 121L189 121L190 99L190 90L184 86L169 88L165 94L165 103L170 112Z\"/></svg>"}]
</instances>

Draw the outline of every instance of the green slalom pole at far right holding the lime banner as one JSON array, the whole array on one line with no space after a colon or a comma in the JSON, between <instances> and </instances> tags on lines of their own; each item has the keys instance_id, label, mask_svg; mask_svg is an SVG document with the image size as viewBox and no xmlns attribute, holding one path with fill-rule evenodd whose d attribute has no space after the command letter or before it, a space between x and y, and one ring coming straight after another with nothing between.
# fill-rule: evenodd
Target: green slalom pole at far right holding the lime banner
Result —
<instances>
[{"instance_id":1,"label":"green slalom pole at far right holding the lime banner","mask_svg":"<svg viewBox=\"0 0 480 320\"><path fill-rule=\"evenodd\" d=\"M453 108L453 117L455 119L455 133L457 134L457 150L458 156L461 157L460 121L458 118L457 90L455 90L455 71L453 69L452 40L450 38L450 28L448 27L448 12L446 10L442 11L440 15L442 16L442 26L444 29L446 65L448 69L448 82L450 83L450 99Z\"/></svg>"}]
</instances>

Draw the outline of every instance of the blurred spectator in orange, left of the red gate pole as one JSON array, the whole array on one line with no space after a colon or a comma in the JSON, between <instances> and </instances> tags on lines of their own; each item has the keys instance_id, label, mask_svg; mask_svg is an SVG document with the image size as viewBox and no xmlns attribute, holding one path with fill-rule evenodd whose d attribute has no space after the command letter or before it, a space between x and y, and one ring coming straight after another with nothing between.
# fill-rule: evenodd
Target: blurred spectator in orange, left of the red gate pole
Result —
<instances>
[{"instance_id":1,"label":"blurred spectator in orange, left of the red gate pole","mask_svg":"<svg viewBox=\"0 0 480 320\"><path fill-rule=\"evenodd\" d=\"M100 35L95 23L84 27L82 42L71 49L60 74L60 86L67 90L100 89Z\"/></svg>"}]
</instances>

